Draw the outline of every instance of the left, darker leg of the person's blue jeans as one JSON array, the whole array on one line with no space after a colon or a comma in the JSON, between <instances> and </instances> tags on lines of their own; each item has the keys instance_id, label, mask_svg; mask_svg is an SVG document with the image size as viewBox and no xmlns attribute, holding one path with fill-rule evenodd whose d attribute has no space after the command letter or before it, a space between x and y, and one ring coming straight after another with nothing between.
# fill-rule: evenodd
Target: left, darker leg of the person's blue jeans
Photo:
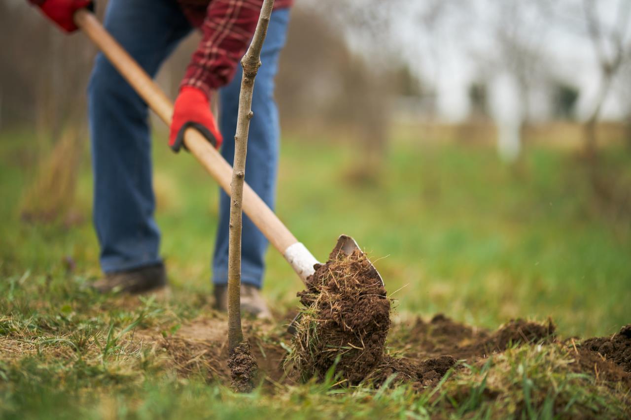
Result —
<instances>
[{"instance_id":1,"label":"left, darker leg of the person's blue jeans","mask_svg":"<svg viewBox=\"0 0 631 420\"><path fill-rule=\"evenodd\" d=\"M151 77L191 31L172 0L110 0L105 28ZM91 74L88 107L101 267L115 272L160 262L147 105L103 54Z\"/></svg>"}]
</instances>

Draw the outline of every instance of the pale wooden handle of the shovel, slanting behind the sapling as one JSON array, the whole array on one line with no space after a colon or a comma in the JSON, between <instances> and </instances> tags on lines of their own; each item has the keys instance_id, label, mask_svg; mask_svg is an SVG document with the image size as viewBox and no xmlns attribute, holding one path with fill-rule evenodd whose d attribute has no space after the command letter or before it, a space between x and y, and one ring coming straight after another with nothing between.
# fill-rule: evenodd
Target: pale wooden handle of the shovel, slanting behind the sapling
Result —
<instances>
[{"instance_id":1,"label":"pale wooden handle of the shovel, slanting behind the sapling","mask_svg":"<svg viewBox=\"0 0 631 420\"><path fill-rule=\"evenodd\" d=\"M170 125L173 104L131 55L127 54L112 35L103 28L98 19L86 9L81 9L74 14L74 21L88 35L88 38L102 50L110 63L116 67L153 112L167 125ZM221 188L230 195L232 167L223 156L201 133L192 128L184 133L184 144L221 185ZM167 147L166 144L165 147ZM243 191L243 210L281 255L285 255L287 248L298 242L295 236L276 217L276 214L247 184L244 185Z\"/></svg>"}]
</instances>

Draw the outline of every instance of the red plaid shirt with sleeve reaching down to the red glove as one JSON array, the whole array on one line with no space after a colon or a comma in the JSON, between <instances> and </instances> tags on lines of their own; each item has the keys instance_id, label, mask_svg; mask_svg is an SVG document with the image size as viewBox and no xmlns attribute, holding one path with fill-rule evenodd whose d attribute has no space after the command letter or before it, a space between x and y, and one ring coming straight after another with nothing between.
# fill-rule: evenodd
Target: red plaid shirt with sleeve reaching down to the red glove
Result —
<instances>
[{"instance_id":1,"label":"red plaid shirt with sleeve reaching down to the red glove","mask_svg":"<svg viewBox=\"0 0 631 420\"><path fill-rule=\"evenodd\" d=\"M210 96L227 85L250 43L261 13L262 0L178 0L184 15L203 37L193 53L181 86L193 86ZM274 0L274 9L293 0Z\"/></svg>"}]
</instances>

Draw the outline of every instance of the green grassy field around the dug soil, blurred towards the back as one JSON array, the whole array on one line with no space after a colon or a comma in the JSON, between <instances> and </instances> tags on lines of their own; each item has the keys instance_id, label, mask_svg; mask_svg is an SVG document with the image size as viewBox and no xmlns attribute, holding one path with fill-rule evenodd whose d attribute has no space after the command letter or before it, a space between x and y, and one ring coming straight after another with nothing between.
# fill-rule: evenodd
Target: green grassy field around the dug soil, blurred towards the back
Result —
<instances>
[{"instance_id":1,"label":"green grassy field around the dug soil, blurred towards the back","mask_svg":"<svg viewBox=\"0 0 631 420\"><path fill-rule=\"evenodd\" d=\"M129 351L121 340L136 327L172 334L209 313L215 183L191 156L155 148L156 216L172 297L129 305L84 287L99 275L87 151L71 208L83 222L20 221L21 198L41 157L31 137L0 136L0 417L484 417L514 404L473 393L454 408L448 388L419 398L406 387L375 392L331 383L234 395L199 375L175 375L156 354ZM627 151L605 158L620 177L631 176ZM603 211L574 156L527 149L510 168L493 149L432 146L401 135L374 182L349 177L357 165L346 144L285 139L278 214L322 260L340 233L354 236L377 260L389 292L396 291L396 319L442 312L495 329L510 318L551 317L563 337L613 334L631 322L630 218ZM300 286L270 250L264 294L277 312L297 306ZM528 406L529 417L553 412L554 398L544 392L550 381L560 384L555 395L577 395L581 404L620 415L607 391L586 387L589 378L555 376L558 354L528 352L511 350L496 369L510 372L501 380L507 389L517 383L522 400L543 392L541 405ZM488 372L476 369L449 387L481 387Z\"/></svg>"}]
</instances>

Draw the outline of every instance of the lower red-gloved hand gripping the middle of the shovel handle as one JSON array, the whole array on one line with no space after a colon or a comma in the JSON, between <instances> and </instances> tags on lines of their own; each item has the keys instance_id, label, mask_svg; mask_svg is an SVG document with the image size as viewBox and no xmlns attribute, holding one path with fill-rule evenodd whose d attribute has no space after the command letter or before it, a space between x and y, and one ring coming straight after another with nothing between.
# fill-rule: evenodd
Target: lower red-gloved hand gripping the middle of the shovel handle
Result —
<instances>
[{"instance_id":1,"label":"lower red-gloved hand gripping the middle of the shovel handle","mask_svg":"<svg viewBox=\"0 0 631 420\"><path fill-rule=\"evenodd\" d=\"M221 146L223 138L217 129L215 117L210 112L208 96L198 88L184 86L175 100L168 136L168 145L174 152L180 151L184 144L184 131L189 127L201 132L215 148Z\"/></svg>"}]
</instances>

